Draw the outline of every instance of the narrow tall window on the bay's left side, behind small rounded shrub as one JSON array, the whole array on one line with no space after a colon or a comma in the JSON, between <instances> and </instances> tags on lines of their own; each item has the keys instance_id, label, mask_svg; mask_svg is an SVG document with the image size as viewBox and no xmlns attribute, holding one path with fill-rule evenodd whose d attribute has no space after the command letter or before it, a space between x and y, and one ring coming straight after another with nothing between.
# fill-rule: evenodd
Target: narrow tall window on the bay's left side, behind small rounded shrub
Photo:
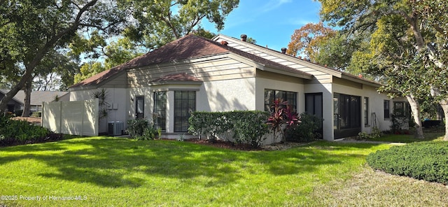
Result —
<instances>
[{"instance_id":1,"label":"narrow tall window on the bay's left side, behind small rounded shrub","mask_svg":"<svg viewBox=\"0 0 448 207\"><path fill-rule=\"evenodd\" d=\"M167 130L167 92L154 92L154 126Z\"/></svg>"}]
</instances>

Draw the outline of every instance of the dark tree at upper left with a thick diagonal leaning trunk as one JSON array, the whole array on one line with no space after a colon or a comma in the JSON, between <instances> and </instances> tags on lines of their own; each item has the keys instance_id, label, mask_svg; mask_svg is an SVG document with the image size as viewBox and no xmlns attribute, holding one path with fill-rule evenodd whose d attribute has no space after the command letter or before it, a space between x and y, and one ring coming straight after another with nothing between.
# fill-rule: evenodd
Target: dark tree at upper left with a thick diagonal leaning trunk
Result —
<instances>
[{"instance_id":1,"label":"dark tree at upper left with a thick diagonal leaning trunk","mask_svg":"<svg viewBox=\"0 0 448 207\"><path fill-rule=\"evenodd\" d=\"M0 113L30 80L45 55L64 48L76 31L117 32L120 27L112 26L123 22L125 15L113 9L115 7L114 3L97 0L0 1L0 34L3 40L0 41L0 51L6 52L7 62L21 64L25 68L19 82L1 99Z\"/></svg>"}]
</instances>

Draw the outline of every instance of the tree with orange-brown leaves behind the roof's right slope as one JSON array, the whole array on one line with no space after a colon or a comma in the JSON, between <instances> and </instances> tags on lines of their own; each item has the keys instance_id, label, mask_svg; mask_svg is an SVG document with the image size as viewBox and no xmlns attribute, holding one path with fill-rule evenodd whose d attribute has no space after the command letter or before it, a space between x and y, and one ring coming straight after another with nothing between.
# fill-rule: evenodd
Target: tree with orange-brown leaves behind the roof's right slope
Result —
<instances>
[{"instance_id":1,"label":"tree with orange-brown leaves behind the roof's right slope","mask_svg":"<svg viewBox=\"0 0 448 207\"><path fill-rule=\"evenodd\" d=\"M305 24L300 29L295 29L286 53L293 56L296 56L297 53L304 53L314 62L319 53L319 45L335 35L336 31L323 26L322 22Z\"/></svg>"}]
</instances>

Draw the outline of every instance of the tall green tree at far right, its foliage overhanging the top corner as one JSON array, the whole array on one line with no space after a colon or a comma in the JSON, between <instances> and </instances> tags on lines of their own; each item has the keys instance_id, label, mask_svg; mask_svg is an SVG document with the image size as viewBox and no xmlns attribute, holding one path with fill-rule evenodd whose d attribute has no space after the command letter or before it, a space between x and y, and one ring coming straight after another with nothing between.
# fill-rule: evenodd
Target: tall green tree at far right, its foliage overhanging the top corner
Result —
<instances>
[{"instance_id":1,"label":"tall green tree at far right, its foliage overhanging the top corner","mask_svg":"<svg viewBox=\"0 0 448 207\"><path fill-rule=\"evenodd\" d=\"M414 94L423 92L421 87L430 86L431 94L437 97L444 109L445 120L448 120L448 90L444 81L447 74L447 1L442 0L319 0L322 3L321 17L332 24L344 27L353 33L370 33L377 29L377 22L385 16L402 17L412 36L412 58L407 56L406 62L413 61L414 68L421 64L425 76L416 76L419 83ZM408 48L411 50L412 48ZM409 53L410 54L410 53ZM402 61L405 61L404 59ZM409 78L409 70L396 70L402 78ZM420 74L420 73L419 73ZM441 77L442 76L442 77ZM391 77L388 77L391 78ZM406 81L406 80L403 80ZM396 85L400 87L400 85ZM396 90L398 90L398 88ZM445 124L444 140L448 141L448 124Z\"/></svg>"}]
</instances>

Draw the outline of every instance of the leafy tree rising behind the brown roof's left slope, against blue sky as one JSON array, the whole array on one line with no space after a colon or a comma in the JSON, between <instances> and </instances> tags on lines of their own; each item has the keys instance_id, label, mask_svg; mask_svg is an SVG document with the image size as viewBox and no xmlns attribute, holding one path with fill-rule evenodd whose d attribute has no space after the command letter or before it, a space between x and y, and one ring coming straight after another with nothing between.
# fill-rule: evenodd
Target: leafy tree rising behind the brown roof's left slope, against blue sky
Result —
<instances>
[{"instance_id":1,"label":"leafy tree rising behind the brown roof's left slope, against blue sky","mask_svg":"<svg viewBox=\"0 0 448 207\"><path fill-rule=\"evenodd\" d=\"M239 0L119 0L136 20L124 36L137 46L153 50L194 31L202 33L200 24L207 19L216 29L224 27L225 17L237 8Z\"/></svg>"}]
</instances>

